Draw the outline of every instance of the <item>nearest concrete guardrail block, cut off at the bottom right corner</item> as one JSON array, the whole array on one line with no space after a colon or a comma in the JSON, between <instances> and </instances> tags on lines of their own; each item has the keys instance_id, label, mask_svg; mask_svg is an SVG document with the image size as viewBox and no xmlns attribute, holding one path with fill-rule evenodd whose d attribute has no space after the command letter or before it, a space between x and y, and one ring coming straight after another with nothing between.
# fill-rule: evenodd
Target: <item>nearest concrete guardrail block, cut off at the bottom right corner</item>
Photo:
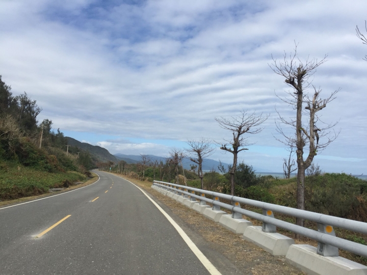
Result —
<instances>
[{"instance_id":1,"label":"nearest concrete guardrail block, cut off at the bottom right corner","mask_svg":"<svg viewBox=\"0 0 367 275\"><path fill-rule=\"evenodd\" d=\"M324 257L308 244L293 244L285 258L310 275L366 275L367 266L343 257Z\"/></svg>"}]
</instances>

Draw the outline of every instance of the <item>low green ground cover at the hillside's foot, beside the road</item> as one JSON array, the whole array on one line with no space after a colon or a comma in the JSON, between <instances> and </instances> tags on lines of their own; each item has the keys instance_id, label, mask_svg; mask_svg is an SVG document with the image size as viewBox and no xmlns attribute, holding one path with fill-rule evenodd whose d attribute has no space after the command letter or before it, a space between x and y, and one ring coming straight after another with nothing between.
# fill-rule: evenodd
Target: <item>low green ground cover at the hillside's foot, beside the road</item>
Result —
<instances>
[{"instance_id":1,"label":"low green ground cover at the hillside's foot, beside the road","mask_svg":"<svg viewBox=\"0 0 367 275\"><path fill-rule=\"evenodd\" d=\"M0 206L32 200L39 195L50 196L49 188L71 190L95 182L98 176L93 173L91 179L74 171L49 173L27 167L11 167L0 171ZM72 185L73 182L84 182Z\"/></svg>"}]
</instances>

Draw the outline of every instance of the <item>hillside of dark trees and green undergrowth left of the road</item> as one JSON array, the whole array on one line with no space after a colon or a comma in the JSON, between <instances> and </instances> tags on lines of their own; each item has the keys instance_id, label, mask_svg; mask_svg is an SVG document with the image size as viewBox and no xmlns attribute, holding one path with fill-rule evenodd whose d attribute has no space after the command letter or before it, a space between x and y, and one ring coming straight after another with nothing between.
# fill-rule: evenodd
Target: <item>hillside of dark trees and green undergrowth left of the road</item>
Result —
<instances>
[{"instance_id":1,"label":"hillside of dark trees and green undergrowth left of the road","mask_svg":"<svg viewBox=\"0 0 367 275\"><path fill-rule=\"evenodd\" d=\"M0 76L0 200L67 187L94 167L87 151L70 147L66 153L67 139L60 129L52 130L51 120L38 124L41 110L27 93L13 96Z\"/></svg>"}]
</instances>

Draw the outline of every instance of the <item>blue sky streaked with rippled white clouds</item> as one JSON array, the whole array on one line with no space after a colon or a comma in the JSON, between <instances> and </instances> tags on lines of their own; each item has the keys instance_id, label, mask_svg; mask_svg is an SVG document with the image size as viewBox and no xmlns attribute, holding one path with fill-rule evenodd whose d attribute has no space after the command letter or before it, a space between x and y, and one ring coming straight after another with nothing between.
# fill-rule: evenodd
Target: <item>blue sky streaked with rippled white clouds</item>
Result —
<instances>
[{"instance_id":1,"label":"blue sky streaked with rippled white clouds","mask_svg":"<svg viewBox=\"0 0 367 275\"><path fill-rule=\"evenodd\" d=\"M106 4L108 3L108 4ZM289 88L268 66L299 43L299 58L327 62L313 84L339 88L322 119L339 136L315 159L327 172L367 173L367 52L355 35L365 1L92 1L0 2L0 74L14 94L26 91L55 128L112 153L167 156L201 137L230 133L216 117L242 109L270 114L240 158L282 171L285 147L275 106ZM231 155L219 149L212 156Z\"/></svg>"}]
</instances>

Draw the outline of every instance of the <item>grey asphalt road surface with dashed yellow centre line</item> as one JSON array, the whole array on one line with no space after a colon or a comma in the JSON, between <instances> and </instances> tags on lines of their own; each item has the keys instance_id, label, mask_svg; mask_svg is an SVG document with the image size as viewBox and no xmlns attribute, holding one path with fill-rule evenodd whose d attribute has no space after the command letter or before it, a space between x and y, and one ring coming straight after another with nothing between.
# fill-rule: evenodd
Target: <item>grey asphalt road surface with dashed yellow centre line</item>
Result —
<instances>
[{"instance_id":1,"label":"grey asphalt road surface with dashed yellow centre line","mask_svg":"<svg viewBox=\"0 0 367 275\"><path fill-rule=\"evenodd\" d=\"M0 208L0 274L209 274L142 191L96 173L87 187Z\"/></svg>"}]
</instances>

